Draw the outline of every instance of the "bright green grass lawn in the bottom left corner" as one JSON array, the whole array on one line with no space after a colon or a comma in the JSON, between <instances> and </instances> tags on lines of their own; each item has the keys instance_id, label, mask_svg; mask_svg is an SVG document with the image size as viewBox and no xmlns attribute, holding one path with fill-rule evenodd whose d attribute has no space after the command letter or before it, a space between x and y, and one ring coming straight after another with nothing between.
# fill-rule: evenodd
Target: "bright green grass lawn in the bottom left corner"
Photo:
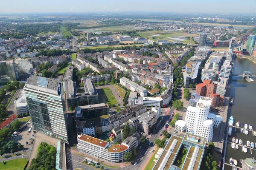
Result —
<instances>
[{"instance_id":1,"label":"bright green grass lawn in the bottom left corner","mask_svg":"<svg viewBox=\"0 0 256 170\"><path fill-rule=\"evenodd\" d=\"M0 170L24 170L27 163L27 159L14 159L5 161L5 164L1 162Z\"/></svg>"}]
</instances>

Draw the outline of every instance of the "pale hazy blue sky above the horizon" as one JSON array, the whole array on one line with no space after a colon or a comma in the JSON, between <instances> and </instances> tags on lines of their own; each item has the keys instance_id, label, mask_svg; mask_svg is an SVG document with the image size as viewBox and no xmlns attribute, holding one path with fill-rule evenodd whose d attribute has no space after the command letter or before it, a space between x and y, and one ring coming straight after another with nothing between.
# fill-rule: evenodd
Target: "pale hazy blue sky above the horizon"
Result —
<instances>
[{"instance_id":1,"label":"pale hazy blue sky above the horizon","mask_svg":"<svg viewBox=\"0 0 256 170\"><path fill-rule=\"evenodd\" d=\"M0 13L166 11L256 13L256 0L0 0Z\"/></svg>"}]
</instances>

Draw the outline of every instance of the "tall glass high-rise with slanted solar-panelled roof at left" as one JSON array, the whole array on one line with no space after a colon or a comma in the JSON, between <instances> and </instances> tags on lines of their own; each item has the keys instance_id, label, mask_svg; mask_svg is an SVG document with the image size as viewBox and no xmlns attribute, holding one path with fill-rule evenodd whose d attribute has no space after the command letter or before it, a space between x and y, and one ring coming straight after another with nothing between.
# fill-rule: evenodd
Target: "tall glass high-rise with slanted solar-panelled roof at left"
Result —
<instances>
[{"instance_id":1,"label":"tall glass high-rise with slanted solar-panelled roof at left","mask_svg":"<svg viewBox=\"0 0 256 170\"><path fill-rule=\"evenodd\" d=\"M24 91L34 130L67 140L62 83L31 75Z\"/></svg>"}]
</instances>

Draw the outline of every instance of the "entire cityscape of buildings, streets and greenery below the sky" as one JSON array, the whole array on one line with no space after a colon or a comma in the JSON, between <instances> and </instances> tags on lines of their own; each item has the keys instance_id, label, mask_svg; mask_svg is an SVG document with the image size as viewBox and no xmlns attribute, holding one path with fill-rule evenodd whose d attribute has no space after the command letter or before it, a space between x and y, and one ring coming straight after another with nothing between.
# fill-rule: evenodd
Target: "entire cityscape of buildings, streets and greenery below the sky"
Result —
<instances>
[{"instance_id":1,"label":"entire cityscape of buildings, streets and greenery below the sky","mask_svg":"<svg viewBox=\"0 0 256 170\"><path fill-rule=\"evenodd\" d=\"M0 169L256 170L255 15L113 15L0 16Z\"/></svg>"}]
</instances>

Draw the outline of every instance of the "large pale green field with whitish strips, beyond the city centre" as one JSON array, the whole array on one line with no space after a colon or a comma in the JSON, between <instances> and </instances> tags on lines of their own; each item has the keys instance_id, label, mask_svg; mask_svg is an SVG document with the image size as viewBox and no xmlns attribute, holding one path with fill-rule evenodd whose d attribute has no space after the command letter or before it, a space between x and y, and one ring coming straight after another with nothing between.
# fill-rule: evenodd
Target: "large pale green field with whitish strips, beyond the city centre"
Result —
<instances>
[{"instance_id":1,"label":"large pale green field with whitish strips, beyond the city centre","mask_svg":"<svg viewBox=\"0 0 256 170\"><path fill-rule=\"evenodd\" d=\"M188 34L183 31L162 31L162 30L152 30L152 31L142 31L138 32L141 37L148 38L157 42L157 40L166 39L168 41L187 41L186 37L196 37L197 34Z\"/></svg>"}]
</instances>

